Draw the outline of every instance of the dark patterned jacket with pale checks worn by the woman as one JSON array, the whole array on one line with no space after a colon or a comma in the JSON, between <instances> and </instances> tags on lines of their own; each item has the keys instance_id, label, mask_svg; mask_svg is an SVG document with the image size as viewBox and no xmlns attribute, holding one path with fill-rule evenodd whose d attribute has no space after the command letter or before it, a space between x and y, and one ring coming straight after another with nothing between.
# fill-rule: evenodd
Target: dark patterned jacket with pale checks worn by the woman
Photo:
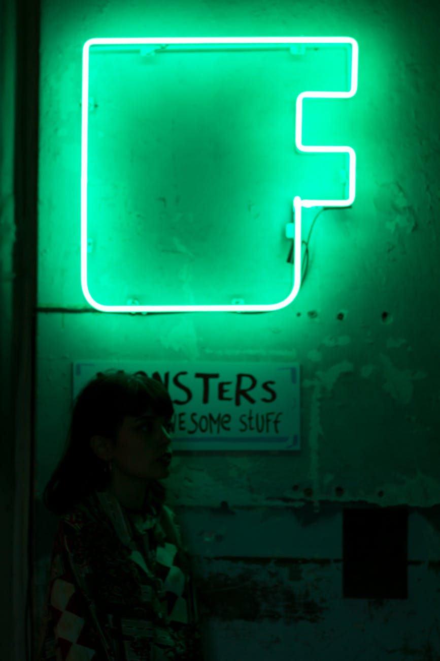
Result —
<instances>
[{"instance_id":1,"label":"dark patterned jacket with pale checks worn by the woman","mask_svg":"<svg viewBox=\"0 0 440 661\"><path fill-rule=\"evenodd\" d=\"M172 510L94 491L61 516L37 661L203 661L191 560Z\"/></svg>"}]
</instances>

